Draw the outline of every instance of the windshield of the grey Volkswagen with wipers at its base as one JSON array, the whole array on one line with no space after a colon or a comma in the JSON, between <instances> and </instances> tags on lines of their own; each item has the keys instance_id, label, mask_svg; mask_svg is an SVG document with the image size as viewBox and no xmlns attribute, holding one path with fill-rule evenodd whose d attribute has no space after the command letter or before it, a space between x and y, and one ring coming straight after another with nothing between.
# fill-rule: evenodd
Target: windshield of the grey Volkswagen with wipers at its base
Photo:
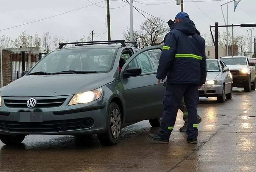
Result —
<instances>
[{"instance_id":1,"label":"windshield of the grey Volkswagen with wipers at its base","mask_svg":"<svg viewBox=\"0 0 256 172\"><path fill-rule=\"evenodd\" d=\"M117 50L111 47L54 51L38 62L30 74L36 72L51 74L63 71L106 73L113 67Z\"/></svg>"}]
</instances>

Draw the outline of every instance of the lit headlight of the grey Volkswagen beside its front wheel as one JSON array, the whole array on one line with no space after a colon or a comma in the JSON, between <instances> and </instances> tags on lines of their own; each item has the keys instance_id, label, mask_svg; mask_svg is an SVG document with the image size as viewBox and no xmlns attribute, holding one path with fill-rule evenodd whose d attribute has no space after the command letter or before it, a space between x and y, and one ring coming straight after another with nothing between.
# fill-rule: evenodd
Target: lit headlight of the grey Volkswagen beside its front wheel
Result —
<instances>
[{"instance_id":1,"label":"lit headlight of the grey Volkswagen beside its front wheel","mask_svg":"<svg viewBox=\"0 0 256 172\"><path fill-rule=\"evenodd\" d=\"M79 93L72 97L68 105L75 105L79 103L89 103L101 97L102 88L94 89L89 92Z\"/></svg>"}]
</instances>

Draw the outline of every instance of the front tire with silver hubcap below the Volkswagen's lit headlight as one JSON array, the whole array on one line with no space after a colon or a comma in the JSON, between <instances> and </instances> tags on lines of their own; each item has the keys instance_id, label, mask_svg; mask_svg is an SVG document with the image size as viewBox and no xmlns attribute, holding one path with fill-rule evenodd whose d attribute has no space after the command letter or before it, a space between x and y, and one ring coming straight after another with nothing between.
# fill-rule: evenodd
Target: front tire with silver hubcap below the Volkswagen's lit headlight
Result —
<instances>
[{"instance_id":1,"label":"front tire with silver hubcap below the Volkswagen's lit headlight","mask_svg":"<svg viewBox=\"0 0 256 172\"><path fill-rule=\"evenodd\" d=\"M108 126L107 131L103 134L98 134L98 140L104 146L117 144L120 140L122 129L122 119L119 107L112 102L109 105L108 111Z\"/></svg>"}]
</instances>

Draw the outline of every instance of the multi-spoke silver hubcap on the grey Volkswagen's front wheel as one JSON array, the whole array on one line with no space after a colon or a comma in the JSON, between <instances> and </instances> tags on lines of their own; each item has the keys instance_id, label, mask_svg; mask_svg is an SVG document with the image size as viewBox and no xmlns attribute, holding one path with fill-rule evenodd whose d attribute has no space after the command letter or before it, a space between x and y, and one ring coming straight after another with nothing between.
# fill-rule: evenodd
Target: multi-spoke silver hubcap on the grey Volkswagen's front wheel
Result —
<instances>
[{"instance_id":1,"label":"multi-spoke silver hubcap on the grey Volkswagen's front wheel","mask_svg":"<svg viewBox=\"0 0 256 172\"><path fill-rule=\"evenodd\" d=\"M121 118L117 109L113 109L113 111L111 112L110 127L113 137L115 139L118 138L121 131Z\"/></svg>"}]
</instances>

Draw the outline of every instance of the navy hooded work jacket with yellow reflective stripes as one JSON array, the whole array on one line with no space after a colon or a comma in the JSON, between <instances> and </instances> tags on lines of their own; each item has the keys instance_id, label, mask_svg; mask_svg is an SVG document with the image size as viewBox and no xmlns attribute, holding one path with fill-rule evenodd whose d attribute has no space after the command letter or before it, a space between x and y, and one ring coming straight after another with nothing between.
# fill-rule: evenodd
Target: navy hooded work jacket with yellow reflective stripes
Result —
<instances>
[{"instance_id":1,"label":"navy hooded work jacket with yellow reflective stripes","mask_svg":"<svg viewBox=\"0 0 256 172\"><path fill-rule=\"evenodd\" d=\"M173 84L204 84L206 79L205 40L196 33L190 19L168 22L156 77Z\"/></svg>"}]
</instances>

